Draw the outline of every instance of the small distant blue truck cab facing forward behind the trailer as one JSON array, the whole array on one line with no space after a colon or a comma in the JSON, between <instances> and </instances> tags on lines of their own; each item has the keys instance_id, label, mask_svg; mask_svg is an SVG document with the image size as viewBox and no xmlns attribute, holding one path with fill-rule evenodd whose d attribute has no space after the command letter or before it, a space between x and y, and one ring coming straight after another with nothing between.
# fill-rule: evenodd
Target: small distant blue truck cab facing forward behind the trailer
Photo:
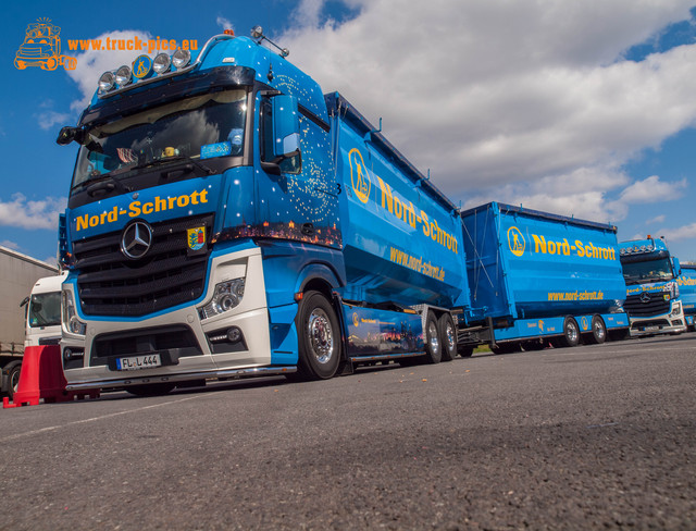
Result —
<instances>
[{"instance_id":1,"label":"small distant blue truck cab facing forward behind the trailer","mask_svg":"<svg viewBox=\"0 0 696 531\"><path fill-rule=\"evenodd\" d=\"M679 334L686 331L680 298L679 259L662 238L621 242L621 266L626 281L624 308L631 335Z\"/></svg>"}]
</instances>

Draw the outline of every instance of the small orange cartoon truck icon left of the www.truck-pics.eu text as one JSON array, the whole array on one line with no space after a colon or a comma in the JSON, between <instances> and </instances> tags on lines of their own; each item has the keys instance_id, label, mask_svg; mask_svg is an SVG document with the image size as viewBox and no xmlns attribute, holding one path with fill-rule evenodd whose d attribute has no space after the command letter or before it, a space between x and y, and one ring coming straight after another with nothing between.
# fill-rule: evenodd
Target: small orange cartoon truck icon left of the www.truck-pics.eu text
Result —
<instances>
[{"instance_id":1,"label":"small orange cartoon truck icon left of the www.truck-pics.eu text","mask_svg":"<svg viewBox=\"0 0 696 531\"><path fill-rule=\"evenodd\" d=\"M75 70L77 60L61 55L61 28L50 22L39 18L27 26L24 42L14 57L15 67L24 70L27 66L40 66L41 70L52 71L60 64L65 70Z\"/></svg>"}]
</instances>

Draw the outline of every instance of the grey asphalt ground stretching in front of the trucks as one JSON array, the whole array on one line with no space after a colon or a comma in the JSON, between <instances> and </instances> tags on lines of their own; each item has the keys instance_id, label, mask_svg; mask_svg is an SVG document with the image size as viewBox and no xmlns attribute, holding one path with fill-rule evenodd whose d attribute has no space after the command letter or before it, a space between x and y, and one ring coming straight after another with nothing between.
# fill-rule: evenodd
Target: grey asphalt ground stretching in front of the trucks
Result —
<instances>
[{"instance_id":1,"label":"grey asphalt ground stretching in front of the trucks","mask_svg":"<svg viewBox=\"0 0 696 531\"><path fill-rule=\"evenodd\" d=\"M694 529L696 334L5 409L2 529Z\"/></svg>"}]
</instances>

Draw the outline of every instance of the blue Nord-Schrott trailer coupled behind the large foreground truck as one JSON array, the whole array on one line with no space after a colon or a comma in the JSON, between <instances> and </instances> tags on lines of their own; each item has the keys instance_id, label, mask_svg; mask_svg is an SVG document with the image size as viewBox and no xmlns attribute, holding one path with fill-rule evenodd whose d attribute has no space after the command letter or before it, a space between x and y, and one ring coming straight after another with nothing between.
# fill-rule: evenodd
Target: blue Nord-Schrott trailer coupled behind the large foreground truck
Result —
<instances>
[{"instance_id":1,"label":"blue Nord-Schrott trailer coupled behind the large foreground truck","mask_svg":"<svg viewBox=\"0 0 696 531\"><path fill-rule=\"evenodd\" d=\"M509 353L627 334L616 226L498 202L461 218L471 292L462 354L477 341Z\"/></svg>"}]
</instances>

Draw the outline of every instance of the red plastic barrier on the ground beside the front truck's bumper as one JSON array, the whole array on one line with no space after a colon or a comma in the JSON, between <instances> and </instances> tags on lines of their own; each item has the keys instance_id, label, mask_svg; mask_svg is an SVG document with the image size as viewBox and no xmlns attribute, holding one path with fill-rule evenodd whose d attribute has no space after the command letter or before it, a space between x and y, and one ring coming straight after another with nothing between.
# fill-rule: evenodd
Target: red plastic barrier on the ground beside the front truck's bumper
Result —
<instances>
[{"instance_id":1,"label":"red plastic barrier on the ground beside the front truck's bumper","mask_svg":"<svg viewBox=\"0 0 696 531\"><path fill-rule=\"evenodd\" d=\"M45 404L52 404L71 402L75 397L99 397L99 390L76 393L66 391L66 384L61 362L61 348L58 345L26 347L17 391L12 397L13 404L10 404L10 399L5 397L2 400L2 407L37 406L40 398L44 398Z\"/></svg>"}]
</instances>

